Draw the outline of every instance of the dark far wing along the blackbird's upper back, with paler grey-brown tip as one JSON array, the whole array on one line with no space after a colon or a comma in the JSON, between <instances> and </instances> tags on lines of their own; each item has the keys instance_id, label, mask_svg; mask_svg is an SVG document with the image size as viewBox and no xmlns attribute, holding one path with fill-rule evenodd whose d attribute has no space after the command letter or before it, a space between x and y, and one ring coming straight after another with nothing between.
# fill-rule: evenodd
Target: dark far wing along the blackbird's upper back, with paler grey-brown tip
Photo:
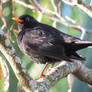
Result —
<instances>
[{"instance_id":1,"label":"dark far wing along the blackbird's upper back, with paler grey-brown tip","mask_svg":"<svg viewBox=\"0 0 92 92\"><path fill-rule=\"evenodd\" d=\"M69 43L74 43L74 42L80 41L79 38L76 38L76 37L73 37L71 35L65 34L65 33L59 31L58 29L56 29L54 27L51 27L51 26L46 25L46 24L41 24L41 25L42 25L42 29L43 30L53 34L53 37L55 39L62 40L65 44L69 44Z\"/></svg>"}]
</instances>

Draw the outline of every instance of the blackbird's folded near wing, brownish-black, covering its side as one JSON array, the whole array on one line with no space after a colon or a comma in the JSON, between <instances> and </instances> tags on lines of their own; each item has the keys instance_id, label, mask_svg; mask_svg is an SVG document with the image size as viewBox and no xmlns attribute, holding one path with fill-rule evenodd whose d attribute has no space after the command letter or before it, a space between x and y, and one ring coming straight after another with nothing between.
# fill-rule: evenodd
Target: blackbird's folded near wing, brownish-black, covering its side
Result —
<instances>
[{"instance_id":1,"label":"blackbird's folded near wing, brownish-black, covering its side","mask_svg":"<svg viewBox=\"0 0 92 92\"><path fill-rule=\"evenodd\" d=\"M65 57L63 38L59 42L57 38L53 37L53 34L41 28L26 29L26 31L28 32L23 36L23 44L30 53L54 57L59 60Z\"/></svg>"}]
</instances>

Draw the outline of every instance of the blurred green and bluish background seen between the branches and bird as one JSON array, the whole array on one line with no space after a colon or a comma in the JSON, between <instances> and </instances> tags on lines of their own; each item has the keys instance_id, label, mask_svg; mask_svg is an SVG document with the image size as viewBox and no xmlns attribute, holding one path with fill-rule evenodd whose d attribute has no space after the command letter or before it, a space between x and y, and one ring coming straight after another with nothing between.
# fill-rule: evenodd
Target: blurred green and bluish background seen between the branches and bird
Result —
<instances>
[{"instance_id":1,"label":"blurred green and bluish background seen between the branches and bird","mask_svg":"<svg viewBox=\"0 0 92 92\"><path fill-rule=\"evenodd\" d=\"M18 3L13 3L14 0L2 0L4 3L2 4L2 16L5 18L5 20L7 21L7 28L4 28L4 32L7 33L11 27L11 25L14 23L14 21L12 21L12 17L19 17L22 14L30 14L32 16L34 16L36 19L39 16L38 12L32 11L28 8L25 8L24 6L18 4ZM30 4L29 0L21 0L24 1L27 4ZM47 8L50 10L54 10L53 6L51 4L51 0L38 0L40 5L43 8ZM86 5L89 5L91 0L82 0ZM55 0L55 4L58 7L58 2L59 0ZM61 14L63 17L65 16L69 16L71 17L73 20L75 20L78 24L80 24L81 26L83 26L85 29L91 30L92 29L92 18L90 18L87 14L85 14L82 10L80 10L78 7L74 6L74 7L70 7L67 4L64 4L61 0ZM53 14L49 14L53 17L56 17ZM66 20L67 21L67 20ZM69 22L69 21L67 21ZM52 26L53 21L48 19L46 16L42 15L42 19L41 19L41 23L45 23L45 24L49 24ZM71 22L69 22L71 23ZM3 21L0 18L0 27L3 25ZM14 28L17 29L17 23L14 24ZM75 37L80 38L81 36L81 32L78 30L74 30L72 28L68 28L60 23L56 24L56 28L68 33L70 35L73 35ZM16 41L16 35L14 32L10 32L9 35L9 39L11 40L11 43L13 45L13 47L16 49L17 54L20 56L20 58L23 61L23 64L25 65L27 71L30 73L30 75L33 78L37 78L40 73L42 68L44 67L44 65L40 65L40 64L36 64L33 63L32 60L30 60L27 56L25 56L20 49L18 48L17 45L17 41ZM92 34L86 34L84 36L84 40L87 41L92 41ZM80 53L82 56L86 56L86 61L85 61L85 65L89 68L92 68L92 49L91 48L87 48L84 50L79 51L78 53ZM5 59L5 57L4 57ZM6 60L7 62L7 60ZM8 62L7 62L8 64ZM10 86L7 92L17 92L17 83L18 80L15 76L15 74L13 73L13 70L11 68L11 66L8 64L9 67L9 72L10 72ZM0 81L0 92L5 92L3 90L3 83L4 79L3 79L3 75L2 75L2 80ZM63 78L62 80L60 80L53 88L50 89L50 92L67 92L68 91L68 82L67 82L67 78ZM73 89L72 92L92 92L92 89L88 87L88 84L79 81L78 79L74 79L74 85L73 85Z\"/></svg>"}]
</instances>

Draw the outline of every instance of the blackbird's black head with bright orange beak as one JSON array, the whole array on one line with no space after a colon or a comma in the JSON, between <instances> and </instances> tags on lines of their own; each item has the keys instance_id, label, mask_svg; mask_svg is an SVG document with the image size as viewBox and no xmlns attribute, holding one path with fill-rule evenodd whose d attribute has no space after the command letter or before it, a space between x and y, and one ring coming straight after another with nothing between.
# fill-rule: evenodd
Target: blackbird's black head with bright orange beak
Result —
<instances>
[{"instance_id":1,"label":"blackbird's black head with bright orange beak","mask_svg":"<svg viewBox=\"0 0 92 92\"><path fill-rule=\"evenodd\" d=\"M12 18L15 22L18 23L19 29L23 28L33 28L38 24L38 22L30 15L22 15L19 18Z\"/></svg>"}]
</instances>

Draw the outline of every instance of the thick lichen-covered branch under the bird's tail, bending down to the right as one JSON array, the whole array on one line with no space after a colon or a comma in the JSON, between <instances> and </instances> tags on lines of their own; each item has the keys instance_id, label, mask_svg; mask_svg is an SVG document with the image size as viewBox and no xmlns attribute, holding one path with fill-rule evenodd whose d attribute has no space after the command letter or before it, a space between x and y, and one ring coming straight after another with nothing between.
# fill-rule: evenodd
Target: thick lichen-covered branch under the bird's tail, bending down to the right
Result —
<instances>
[{"instance_id":1,"label":"thick lichen-covered branch under the bird's tail, bending down to the right","mask_svg":"<svg viewBox=\"0 0 92 92\"><path fill-rule=\"evenodd\" d=\"M79 61L68 63L63 62L59 66L53 68L47 75L49 75L44 83L51 88L54 86L60 79L66 77L68 74L72 73L79 80L84 81L92 85L92 69L86 68Z\"/></svg>"}]
</instances>

